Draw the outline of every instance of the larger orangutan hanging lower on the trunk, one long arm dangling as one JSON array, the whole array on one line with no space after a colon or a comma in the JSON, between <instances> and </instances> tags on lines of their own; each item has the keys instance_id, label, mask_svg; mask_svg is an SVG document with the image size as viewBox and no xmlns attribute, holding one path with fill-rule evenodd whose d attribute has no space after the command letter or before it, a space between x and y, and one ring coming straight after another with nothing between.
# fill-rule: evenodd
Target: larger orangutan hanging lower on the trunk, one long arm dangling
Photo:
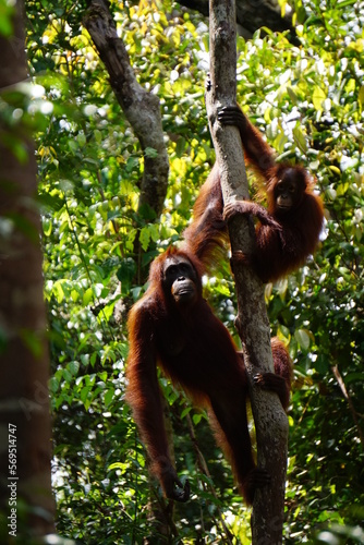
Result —
<instances>
[{"instance_id":1,"label":"larger orangutan hanging lower on the trunk, one long arm dangling","mask_svg":"<svg viewBox=\"0 0 364 545\"><path fill-rule=\"evenodd\" d=\"M202 295L202 262L191 252L169 249L151 264L149 287L129 317L130 354L126 399L133 409L151 460L168 498L186 501L184 486L172 465L163 423L157 365L183 387L197 405L206 407L217 441L231 462L245 500L269 483L255 467L247 428L247 377L242 355ZM277 392L287 409L291 362L283 344L271 342L275 373L256 375L264 388Z\"/></svg>"}]
</instances>

